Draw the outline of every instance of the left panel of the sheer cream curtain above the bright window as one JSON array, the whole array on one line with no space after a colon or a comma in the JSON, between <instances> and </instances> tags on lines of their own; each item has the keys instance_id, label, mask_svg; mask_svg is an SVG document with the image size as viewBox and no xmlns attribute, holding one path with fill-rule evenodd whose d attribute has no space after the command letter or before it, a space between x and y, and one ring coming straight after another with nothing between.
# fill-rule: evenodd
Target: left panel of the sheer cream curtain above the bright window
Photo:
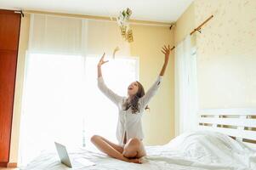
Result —
<instances>
[{"instance_id":1,"label":"left panel of the sheer cream curtain above the bright window","mask_svg":"<svg viewBox=\"0 0 256 170\"><path fill-rule=\"evenodd\" d=\"M83 54L83 28L81 19L31 14L28 50L33 54Z\"/></svg>"}]
</instances>

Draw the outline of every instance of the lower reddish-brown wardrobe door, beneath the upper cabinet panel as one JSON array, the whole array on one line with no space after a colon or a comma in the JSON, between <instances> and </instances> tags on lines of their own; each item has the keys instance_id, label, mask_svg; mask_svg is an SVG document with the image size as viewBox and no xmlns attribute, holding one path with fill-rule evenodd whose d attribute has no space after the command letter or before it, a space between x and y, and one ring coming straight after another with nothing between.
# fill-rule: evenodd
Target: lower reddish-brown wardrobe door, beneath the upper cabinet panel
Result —
<instances>
[{"instance_id":1,"label":"lower reddish-brown wardrobe door, beneath the upper cabinet panel","mask_svg":"<svg viewBox=\"0 0 256 170\"><path fill-rule=\"evenodd\" d=\"M0 161L9 161L17 54L0 50Z\"/></svg>"}]
</instances>

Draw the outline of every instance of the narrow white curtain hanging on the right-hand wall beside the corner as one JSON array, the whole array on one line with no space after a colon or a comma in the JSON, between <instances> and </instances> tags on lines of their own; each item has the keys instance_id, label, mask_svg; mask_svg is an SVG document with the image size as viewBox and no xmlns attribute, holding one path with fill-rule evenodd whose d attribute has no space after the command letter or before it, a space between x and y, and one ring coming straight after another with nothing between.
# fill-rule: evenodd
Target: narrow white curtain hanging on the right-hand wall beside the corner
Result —
<instances>
[{"instance_id":1,"label":"narrow white curtain hanging on the right-hand wall beside the corner","mask_svg":"<svg viewBox=\"0 0 256 170\"><path fill-rule=\"evenodd\" d=\"M196 50L191 36L175 49L175 135L196 129Z\"/></svg>"}]
</instances>

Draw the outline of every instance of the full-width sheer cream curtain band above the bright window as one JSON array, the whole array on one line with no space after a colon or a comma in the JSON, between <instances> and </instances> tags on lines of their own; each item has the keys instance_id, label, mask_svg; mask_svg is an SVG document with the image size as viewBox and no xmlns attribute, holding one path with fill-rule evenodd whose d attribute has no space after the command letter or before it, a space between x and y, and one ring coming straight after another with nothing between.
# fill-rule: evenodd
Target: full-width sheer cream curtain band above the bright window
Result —
<instances>
[{"instance_id":1,"label":"full-width sheer cream curtain band above the bright window","mask_svg":"<svg viewBox=\"0 0 256 170\"><path fill-rule=\"evenodd\" d=\"M130 55L116 22L31 14L30 53L111 56L117 46L117 56Z\"/></svg>"}]
</instances>

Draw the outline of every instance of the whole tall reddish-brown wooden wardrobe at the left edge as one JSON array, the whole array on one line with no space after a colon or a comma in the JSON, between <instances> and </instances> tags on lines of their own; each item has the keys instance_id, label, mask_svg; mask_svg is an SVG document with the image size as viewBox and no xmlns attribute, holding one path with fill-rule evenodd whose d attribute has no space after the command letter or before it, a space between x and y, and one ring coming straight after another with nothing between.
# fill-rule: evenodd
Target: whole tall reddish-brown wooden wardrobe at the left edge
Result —
<instances>
[{"instance_id":1,"label":"whole tall reddish-brown wooden wardrobe at the left edge","mask_svg":"<svg viewBox=\"0 0 256 170\"><path fill-rule=\"evenodd\" d=\"M9 163L20 14L0 9L0 167Z\"/></svg>"}]
</instances>

